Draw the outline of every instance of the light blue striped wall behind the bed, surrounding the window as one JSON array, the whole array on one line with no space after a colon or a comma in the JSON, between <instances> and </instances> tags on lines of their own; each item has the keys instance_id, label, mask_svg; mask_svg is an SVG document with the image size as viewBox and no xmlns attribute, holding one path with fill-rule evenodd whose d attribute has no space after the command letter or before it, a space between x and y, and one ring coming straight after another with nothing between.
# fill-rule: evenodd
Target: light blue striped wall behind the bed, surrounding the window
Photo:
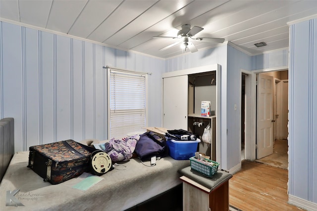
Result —
<instances>
[{"instance_id":1,"label":"light blue striped wall behind the bed, surrounding the window","mask_svg":"<svg viewBox=\"0 0 317 211\"><path fill-rule=\"evenodd\" d=\"M0 22L0 118L13 117L15 151L107 138L103 66L148 75L148 126L161 125L164 60Z\"/></svg>"}]
</instances>

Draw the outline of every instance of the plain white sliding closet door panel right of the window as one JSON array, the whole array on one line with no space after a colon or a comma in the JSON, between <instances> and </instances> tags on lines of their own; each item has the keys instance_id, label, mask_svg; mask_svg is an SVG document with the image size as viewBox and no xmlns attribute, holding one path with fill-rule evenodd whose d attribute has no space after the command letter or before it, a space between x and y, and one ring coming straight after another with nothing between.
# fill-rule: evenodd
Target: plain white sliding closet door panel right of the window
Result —
<instances>
[{"instance_id":1,"label":"plain white sliding closet door panel right of the window","mask_svg":"<svg viewBox=\"0 0 317 211\"><path fill-rule=\"evenodd\" d=\"M163 127L187 128L188 75L163 79Z\"/></svg>"}]
</instances>

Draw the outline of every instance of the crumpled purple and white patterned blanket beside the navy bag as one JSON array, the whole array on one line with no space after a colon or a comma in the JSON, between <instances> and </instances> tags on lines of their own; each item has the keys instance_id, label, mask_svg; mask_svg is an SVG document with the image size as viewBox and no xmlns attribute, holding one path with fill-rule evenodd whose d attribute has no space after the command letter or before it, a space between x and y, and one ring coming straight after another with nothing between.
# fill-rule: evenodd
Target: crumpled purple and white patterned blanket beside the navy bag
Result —
<instances>
[{"instance_id":1,"label":"crumpled purple and white patterned blanket beside the navy bag","mask_svg":"<svg viewBox=\"0 0 317 211\"><path fill-rule=\"evenodd\" d=\"M110 156L111 161L128 161L132 158L132 153L135 150L135 145L140 139L140 135L133 135L122 140L111 138L105 143L106 153Z\"/></svg>"}]
</instances>

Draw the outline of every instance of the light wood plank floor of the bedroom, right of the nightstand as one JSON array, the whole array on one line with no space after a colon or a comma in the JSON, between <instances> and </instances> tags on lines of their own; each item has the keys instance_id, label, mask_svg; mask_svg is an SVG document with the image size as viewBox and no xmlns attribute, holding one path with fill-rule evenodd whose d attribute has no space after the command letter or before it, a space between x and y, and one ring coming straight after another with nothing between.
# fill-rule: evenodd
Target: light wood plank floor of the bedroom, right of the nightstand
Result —
<instances>
[{"instance_id":1,"label":"light wood plank floor of the bedroom, right of the nightstand","mask_svg":"<svg viewBox=\"0 0 317 211\"><path fill-rule=\"evenodd\" d=\"M288 170L244 161L229 180L229 203L242 211L300 211L289 205Z\"/></svg>"}]
</instances>

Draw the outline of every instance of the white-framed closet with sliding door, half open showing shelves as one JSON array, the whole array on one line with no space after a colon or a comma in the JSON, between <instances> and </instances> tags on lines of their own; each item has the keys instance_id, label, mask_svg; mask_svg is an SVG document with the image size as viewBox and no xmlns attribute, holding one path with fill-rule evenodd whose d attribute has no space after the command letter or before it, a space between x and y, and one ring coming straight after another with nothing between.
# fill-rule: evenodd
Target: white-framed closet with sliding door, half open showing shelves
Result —
<instances>
[{"instance_id":1,"label":"white-framed closet with sliding door, half open showing shelves","mask_svg":"<svg viewBox=\"0 0 317 211\"><path fill-rule=\"evenodd\" d=\"M201 153L220 158L220 66L211 65L163 74L163 127L184 129L202 140L204 129L211 127L210 144L203 140ZM201 116L202 101L211 101L210 117Z\"/></svg>"}]
</instances>

